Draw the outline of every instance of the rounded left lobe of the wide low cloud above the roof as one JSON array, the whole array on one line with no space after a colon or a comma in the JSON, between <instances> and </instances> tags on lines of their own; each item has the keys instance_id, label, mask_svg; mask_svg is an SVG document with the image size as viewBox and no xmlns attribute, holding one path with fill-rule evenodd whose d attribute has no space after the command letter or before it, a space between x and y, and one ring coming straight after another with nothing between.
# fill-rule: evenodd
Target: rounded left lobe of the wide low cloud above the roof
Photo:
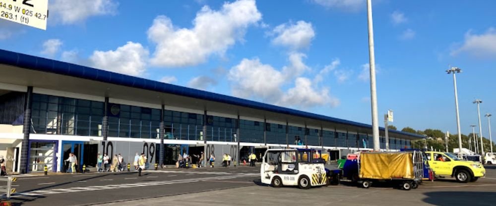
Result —
<instances>
[{"instance_id":1,"label":"rounded left lobe of the wide low cloud above the roof","mask_svg":"<svg viewBox=\"0 0 496 206\"><path fill-rule=\"evenodd\" d=\"M258 58L243 59L231 68L228 75L232 93L241 98L274 102L280 97L283 75L271 65L262 64Z\"/></svg>"}]
</instances>

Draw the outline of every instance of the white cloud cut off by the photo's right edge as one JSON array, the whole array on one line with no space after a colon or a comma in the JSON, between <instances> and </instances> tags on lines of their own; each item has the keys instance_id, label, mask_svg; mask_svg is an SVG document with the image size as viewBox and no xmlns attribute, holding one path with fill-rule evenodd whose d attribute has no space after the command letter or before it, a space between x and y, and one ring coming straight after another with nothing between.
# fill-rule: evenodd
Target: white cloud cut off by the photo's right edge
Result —
<instances>
[{"instance_id":1,"label":"white cloud cut off by the photo's right edge","mask_svg":"<svg viewBox=\"0 0 496 206\"><path fill-rule=\"evenodd\" d=\"M451 51L451 55L468 53L479 58L495 58L496 56L496 29L491 27L484 34L465 34L465 42L460 48Z\"/></svg>"}]
</instances>

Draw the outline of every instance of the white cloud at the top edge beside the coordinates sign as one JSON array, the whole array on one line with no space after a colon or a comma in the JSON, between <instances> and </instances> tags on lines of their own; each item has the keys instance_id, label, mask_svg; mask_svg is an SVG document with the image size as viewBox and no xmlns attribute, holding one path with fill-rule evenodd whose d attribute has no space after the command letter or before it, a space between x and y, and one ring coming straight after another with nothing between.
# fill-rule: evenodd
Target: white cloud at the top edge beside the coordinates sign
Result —
<instances>
[{"instance_id":1,"label":"white cloud at the top edge beside the coordinates sign","mask_svg":"<svg viewBox=\"0 0 496 206\"><path fill-rule=\"evenodd\" d=\"M56 22L75 24L91 16L115 14L118 5L115 0L51 0L49 7Z\"/></svg>"}]
</instances>

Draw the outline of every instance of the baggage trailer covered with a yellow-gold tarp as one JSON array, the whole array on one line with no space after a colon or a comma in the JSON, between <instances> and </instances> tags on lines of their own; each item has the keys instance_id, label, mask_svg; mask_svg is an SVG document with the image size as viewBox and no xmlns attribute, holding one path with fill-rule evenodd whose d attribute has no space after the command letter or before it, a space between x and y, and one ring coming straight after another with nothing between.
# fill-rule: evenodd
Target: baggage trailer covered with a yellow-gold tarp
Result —
<instances>
[{"instance_id":1,"label":"baggage trailer covered with a yellow-gold tarp","mask_svg":"<svg viewBox=\"0 0 496 206\"><path fill-rule=\"evenodd\" d=\"M404 190L416 189L424 178L422 153L361 152L358 159L359 181L363 188L374 182L398 183Z\"/></svg>"}]
</instances>

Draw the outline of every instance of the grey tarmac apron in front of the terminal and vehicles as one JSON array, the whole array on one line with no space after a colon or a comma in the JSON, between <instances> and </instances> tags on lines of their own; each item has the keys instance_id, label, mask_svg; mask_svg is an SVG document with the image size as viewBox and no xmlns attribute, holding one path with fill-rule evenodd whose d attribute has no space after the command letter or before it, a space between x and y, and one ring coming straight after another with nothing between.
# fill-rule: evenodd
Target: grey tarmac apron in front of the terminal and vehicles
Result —
<instances>
[{"instance_id":1,"label":"grey tarmac apron in front of the terminal and vehicles","mask_svg":"<svg viewBox=\"0 0 496 206\"><path fill-rule=\"evenodd\" d=\"M301 190L260 183L259 167L149 170L136 172L18 176L18 206L419 206L496 205L496 166L474 183L424 182L404 191L387 183L369 189L350 182Z\"/></svg>"}]
</instances>

